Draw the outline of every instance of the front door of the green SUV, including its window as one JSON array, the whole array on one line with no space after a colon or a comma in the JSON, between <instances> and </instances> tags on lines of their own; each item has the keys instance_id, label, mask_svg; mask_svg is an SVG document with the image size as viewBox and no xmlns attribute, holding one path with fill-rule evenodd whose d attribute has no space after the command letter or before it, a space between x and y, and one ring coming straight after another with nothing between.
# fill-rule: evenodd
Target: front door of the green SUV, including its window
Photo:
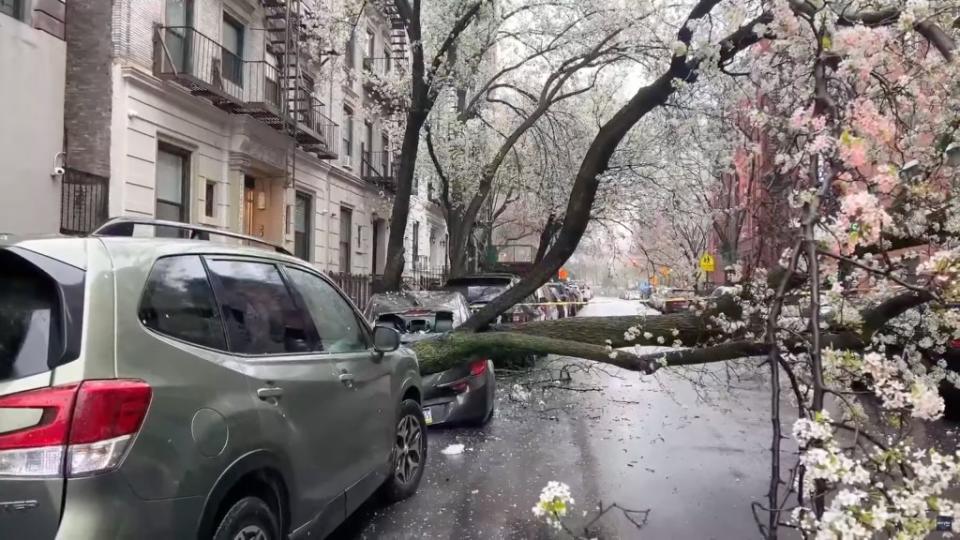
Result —
<instances>
[{"instance_id":1,"label":"front door of the green SUV, including its window","mask_svg":"<svg viewBox=\"0 0 960 540\"><path fill-rule=\"evenodd\" d=\"M342 462L353 485L389 462L395 420L389 358L373 351L366 323L332 284L299 267L288 266L285 273L310 310L320 349L336 362L347 390L341 405L350 422L344 432L350 434L344 441L349 455Z\"/></svg>"}]
</instances>

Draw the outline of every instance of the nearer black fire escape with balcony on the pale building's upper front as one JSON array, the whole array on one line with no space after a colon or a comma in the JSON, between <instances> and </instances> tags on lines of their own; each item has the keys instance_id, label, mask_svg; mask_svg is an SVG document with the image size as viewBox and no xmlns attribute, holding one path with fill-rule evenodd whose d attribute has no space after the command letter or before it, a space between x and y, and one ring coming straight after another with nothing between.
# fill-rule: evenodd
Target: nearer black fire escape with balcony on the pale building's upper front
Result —
<instances>
[{"instance_id":1,"label":"nearer black fire escape with balcony on the pale building's upper front","mask_svg":"<svg viewBox=\"0 0 960 540\"><path fill-rule=\"evenodd\" d=\"M296 148L321 159L337 157L338 126L324 114L304 73L300 0L261 0L266 54L242 58L192 26L157 26L154 73L232 114L245 114L296 144L286 158L287 183L296 173Z\"/></svg>"}]
</instances>

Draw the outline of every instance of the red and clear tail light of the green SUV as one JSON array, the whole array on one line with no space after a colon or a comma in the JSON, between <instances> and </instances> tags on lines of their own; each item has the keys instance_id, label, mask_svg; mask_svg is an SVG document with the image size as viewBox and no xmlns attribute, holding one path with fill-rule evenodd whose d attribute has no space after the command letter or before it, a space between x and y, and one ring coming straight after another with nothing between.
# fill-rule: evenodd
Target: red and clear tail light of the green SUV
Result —
<instances>
[{"instance_id":1,"label":"red and clear tail light of the green SUV","mask_svg":"<svg viewBox=\"0 0 960 540\"><path fill-rule=\"evenodd\" d=\"M87 381L0 397L40 422L0 435L0 476L84 476L116 468L150 405L143 381Z\"/></svg>"}]
</instances>

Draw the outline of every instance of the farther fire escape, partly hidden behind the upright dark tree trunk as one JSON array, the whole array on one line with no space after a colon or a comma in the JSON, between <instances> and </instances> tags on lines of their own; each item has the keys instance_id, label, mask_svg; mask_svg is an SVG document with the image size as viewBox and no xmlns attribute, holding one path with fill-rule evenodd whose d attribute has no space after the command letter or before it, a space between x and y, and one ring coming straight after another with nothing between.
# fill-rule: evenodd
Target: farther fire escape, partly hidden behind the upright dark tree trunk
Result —
<instances>
[{"instance_id":1,"label":"farther fire escape, partly hidden behind the upright dark tree trunk","mask_svg":"<svg viewBox=\"0 0 960 540\"><path fill-rule=\"evenodd\" d=\"M374 81L378 77L388 75L391 70L404 73L408 62L407 25L397 9L396 1L398 0L380 0L374 3L374 6L380 10L390 27L390 56L383 58L366 57L363 59L363 69L368 74L363 79L364 90L375 99L380 100L383 100L385 96L377 91L377 85ZM371 74L372 76L370 76ZM397 109L391 107L390 103L385 103L384 109L387 113L397 112ZM366 148L361 152L360 176L364 181L381 189L396 192L398 167L399 159L386 149L373 152Z\"/></svg>"}]
</instances>

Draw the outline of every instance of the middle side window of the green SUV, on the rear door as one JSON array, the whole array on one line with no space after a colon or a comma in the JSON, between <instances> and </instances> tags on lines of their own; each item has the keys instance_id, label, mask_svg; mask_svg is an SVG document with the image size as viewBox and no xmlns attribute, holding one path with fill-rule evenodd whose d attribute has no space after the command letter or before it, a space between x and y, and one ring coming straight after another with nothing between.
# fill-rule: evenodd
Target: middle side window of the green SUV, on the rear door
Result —
<instances>
[{"instance_id":1,"label":"middle side window of the green SUV, on the rear door","mask_svg":"<svg viewBox=\"0 0 960 540\"><path fill-rule=\"evenodd\" d=\"M231 351L282 354L312 349L313 328L276 266L208 259L207 267L218 285L217 300Z\"/></svg>"}]
</instances>

